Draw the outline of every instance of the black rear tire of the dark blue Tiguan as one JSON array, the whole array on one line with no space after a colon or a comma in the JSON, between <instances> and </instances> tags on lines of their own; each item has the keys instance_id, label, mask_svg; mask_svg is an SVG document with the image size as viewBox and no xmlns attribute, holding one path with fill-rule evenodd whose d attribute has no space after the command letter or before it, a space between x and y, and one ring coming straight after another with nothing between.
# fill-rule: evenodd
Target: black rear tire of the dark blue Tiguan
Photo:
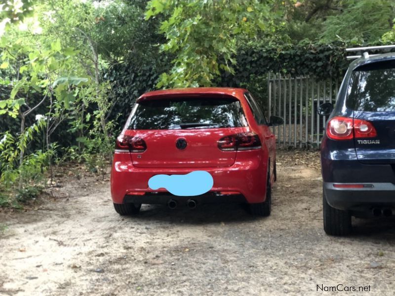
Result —
<instances>
[{"instance_id":1,"label":"black rear tire of the dark blue Tiguan","mask_svg":"<svg viewBox=\"0 0 395 296\"><path fill-rule=\"evenodd\" d=\"M326 234L342 236L351 233L351 214L331 207L326 201L325 191L322 189L323 222Z\"/></svg>"}]
</instances>

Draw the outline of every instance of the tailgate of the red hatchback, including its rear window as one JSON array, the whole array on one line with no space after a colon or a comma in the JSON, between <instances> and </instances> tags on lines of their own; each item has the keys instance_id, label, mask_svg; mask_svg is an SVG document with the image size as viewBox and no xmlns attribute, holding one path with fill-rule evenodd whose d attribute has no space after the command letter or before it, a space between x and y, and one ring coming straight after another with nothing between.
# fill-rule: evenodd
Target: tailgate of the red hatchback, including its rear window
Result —
<instances>
[{"instance_id":1,"label":"tailgate of the red hatchback, including its rear window","mask_svg":"<svg viewBox=\"0 0 395 296\"><path fill-rule=\"evenodd\" d=\"M248 131L240 102L230 96L165 96L139 102L125 134L147 149L131 153L142 168L204 168L234 164L236 151L222 151L224 136Z\"/></svg>"}]
</instances>

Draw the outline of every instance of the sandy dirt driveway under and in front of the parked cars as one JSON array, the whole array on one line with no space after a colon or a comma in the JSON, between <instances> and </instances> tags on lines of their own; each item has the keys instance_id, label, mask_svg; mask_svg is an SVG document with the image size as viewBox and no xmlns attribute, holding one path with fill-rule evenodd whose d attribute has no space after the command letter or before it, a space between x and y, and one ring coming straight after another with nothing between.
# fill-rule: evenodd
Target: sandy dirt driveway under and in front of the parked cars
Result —
<instances>
[{"instance_id":1,"label":"sandy dirt driveway under and in front of the parked cars","mask_svg":"<svg viewBox=\"0 0 395 296\"><path fill-rule=\"evenodd\" d=\"M316 295L338 284L394 295L395 220L325 235L317 154L298 155L279 153L265 219L238 205L120 217L108 181L89 177L37 209L0 213L0 295Z\"/></svg>"}]
</instances>

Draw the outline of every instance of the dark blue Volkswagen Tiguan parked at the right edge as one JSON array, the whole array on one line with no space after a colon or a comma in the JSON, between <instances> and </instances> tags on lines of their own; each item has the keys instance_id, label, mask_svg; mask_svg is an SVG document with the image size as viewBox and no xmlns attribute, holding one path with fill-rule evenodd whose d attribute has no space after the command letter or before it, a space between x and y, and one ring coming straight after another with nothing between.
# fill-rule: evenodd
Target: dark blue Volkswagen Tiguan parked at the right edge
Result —
<instances>
[{"instance_id":1,"label":"dark blue Volkswagen Tiguan parked at the right edge","mask_svg":"<svg viewBox=\"0 0 395 296\"><path fill-rule=\"evenodd\" d=\"M395 53L351 63L321 143L323 223L351 232L351 216L391 216L395 207Z\"/></svg>"}]
</instances>

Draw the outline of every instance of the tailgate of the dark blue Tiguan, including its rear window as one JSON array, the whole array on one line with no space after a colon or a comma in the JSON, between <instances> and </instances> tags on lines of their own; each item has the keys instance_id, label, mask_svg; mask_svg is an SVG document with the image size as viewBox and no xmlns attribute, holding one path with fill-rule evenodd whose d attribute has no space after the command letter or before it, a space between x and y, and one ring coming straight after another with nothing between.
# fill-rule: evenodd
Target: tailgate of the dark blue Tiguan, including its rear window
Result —
<instances>
[{"instance_id":1,"label":"tailgate of the dark blue Tiguan, including its rear window","mask_svg":"<svg viewBox=\"0 0 395 296\"><path fill-rule=\"evenodd\" d=\"M347 104L354 122L367 120L375 137L355 138L356 155L366 164L395 164L395 61L371 63L351 76Z\"/></svg>"}]
</instances>

